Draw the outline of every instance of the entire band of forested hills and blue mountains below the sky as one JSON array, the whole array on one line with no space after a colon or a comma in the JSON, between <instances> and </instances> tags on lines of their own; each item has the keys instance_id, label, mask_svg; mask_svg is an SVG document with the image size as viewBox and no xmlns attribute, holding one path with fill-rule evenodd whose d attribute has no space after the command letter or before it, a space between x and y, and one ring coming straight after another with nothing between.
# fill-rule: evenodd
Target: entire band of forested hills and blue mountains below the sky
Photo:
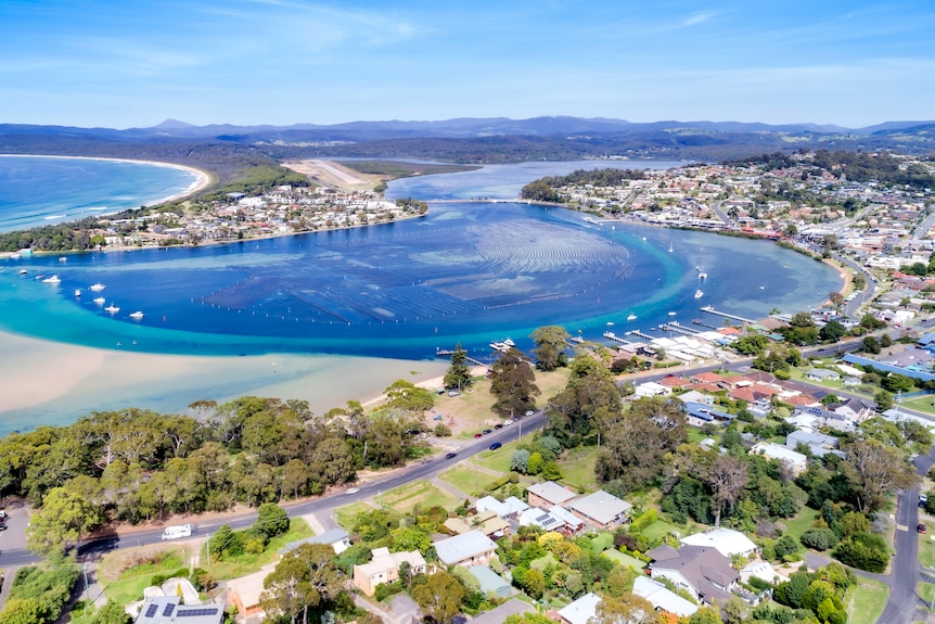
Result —
<instances>
[{"instance_id":1,"label":"entire band of forested hills and blue mountains below the sky","mask_svg":"<svg viewBox=\"0 0 935 624\"><path fill-rule=\"evenodd\" d=\"M469 117L331 126L193 126L166 119L152 128L125 130L0 124L0 153L166 161L201 166L221 179L247 165L303 157L414 157L471 164L611 157L718 162L798 149L933 154L935 122L844 128L580 117Z\"/></svg>"}]
</instances>

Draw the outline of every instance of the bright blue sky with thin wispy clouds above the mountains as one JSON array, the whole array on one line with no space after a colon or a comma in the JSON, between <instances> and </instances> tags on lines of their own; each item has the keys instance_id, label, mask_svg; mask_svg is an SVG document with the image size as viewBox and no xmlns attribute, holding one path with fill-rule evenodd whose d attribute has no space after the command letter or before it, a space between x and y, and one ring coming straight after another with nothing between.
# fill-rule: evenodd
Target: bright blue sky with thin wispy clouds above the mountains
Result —
<instances>
[{"instance_id":1,"label":"bright blue sky with thin wispy clouds above the mountains","mask_svg":"<svg viewBox=\"0 0 935 624\"><path fill-rule=\"evenodd\" d=\"M935 118L935 2L0 0L0 123Z\"/></svg>"}]
</instances>

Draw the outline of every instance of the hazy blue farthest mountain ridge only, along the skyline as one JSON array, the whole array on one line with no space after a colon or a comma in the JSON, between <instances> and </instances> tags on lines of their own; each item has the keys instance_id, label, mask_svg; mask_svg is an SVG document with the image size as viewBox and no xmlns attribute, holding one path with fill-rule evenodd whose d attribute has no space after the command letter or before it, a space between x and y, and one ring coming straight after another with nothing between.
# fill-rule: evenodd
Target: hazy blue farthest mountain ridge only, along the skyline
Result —
<instances>
[{"instance_id":1,"label":"hazy blue farthest mountain ridge only, along the skyline","mask_svg":"<svg viewBox=\"0 0 935 624\"><path fill-rule=\"evenodd\" d=\"M221 139L267 141L375 141L409 138L482 138L482 137L551 137L582 133L645 133L665 130L702 130L707 132L747 133L822 133L871 136L879 132L912 131L915 128L935 127L930 122L886 122L866 128L845 128L835 125L784 124L770 125L743 122L652 122L631 123L624 119L582 117L465 117L441 122L350 122L346 124L291 126L234 126L212 124L193 126L178 119L166 119L151 128L78 128L72 126L35 126L0 124L0 135L57 135L71 137L100 137L123 140L159 139Z\"/></svg>"}]
</instances>

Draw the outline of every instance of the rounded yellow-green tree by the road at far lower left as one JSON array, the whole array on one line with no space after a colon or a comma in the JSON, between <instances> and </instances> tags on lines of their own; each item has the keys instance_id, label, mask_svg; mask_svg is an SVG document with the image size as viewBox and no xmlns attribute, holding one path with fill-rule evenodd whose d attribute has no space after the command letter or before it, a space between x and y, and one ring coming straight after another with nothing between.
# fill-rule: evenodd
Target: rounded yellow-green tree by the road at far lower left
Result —
<instances>
[{"instance_id":1,"label":"rounded yellow-green tree by the road at far lower left","mask_svg":"<svg viewBox=\"0 0 935 624\"><path fill-rule=\"evenodd\" d=\"M64 487L49 491L42 509L29 519L26 545L43 557L63 556L69 544L101 525L98 507Z\"/></svg>"}]
</instances>

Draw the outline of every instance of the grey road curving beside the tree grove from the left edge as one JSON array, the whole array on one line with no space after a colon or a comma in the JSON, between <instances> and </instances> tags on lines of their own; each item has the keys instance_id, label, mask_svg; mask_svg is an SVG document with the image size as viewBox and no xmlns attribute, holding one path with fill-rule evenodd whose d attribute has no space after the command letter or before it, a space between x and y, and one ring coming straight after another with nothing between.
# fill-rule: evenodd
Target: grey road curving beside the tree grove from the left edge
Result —
<instances>
[{"instance_id":1,"label":"grey road curving beside the tree grove from the left edge","mask_svg":"<svg viewBox=\"0 0 935 624\"><path fill-rule=\"evenodd\" d=\"M535 415L524 417L501 430L495 430L492 433L485 435L479 440L472 440L470 442L452 442L452 444L463 445L463 448L458 451L458 456L456 458L447 459L445 454L441 454L438 457L425 459L421 462L411 464L386 477L361 483L358 485L358 492L355 494L332 494L330 496L323 496L303 502L284 504L282 507L286 510L290 517L296 518L299 515L307 515L309 513L330 511L351 502L379 497L381 493L399 487L400 485L406 485L414 481L432 479L439 472L451 468L457 461L476 455L483 450L487 450L495 442L505 444L513 440L517 440L522 435L531 433L535 429L542 426L543 421L545 416L541 411L537 411ZM206 522L197 522L193 526L192 539L209 536L222 524L227 524L233 530L246 529L252 525L255 520L256 512L251 511L248 513L231 514ZM20 529L20 531L15 531L15 533L20 533L22 535L22 532L24 531L25 524ZM14 533L12 526L8 533ZM162 529L142 531L125 536L116 534L110 536L105 535L98 539L82 543L78 549L79 560L94 560L101 555L121 548L159 544L162 542ZM38 561L40 561L40 558L29 550L26 550L23 546L0 551L0 568L3 569L18 568L36 563Z\"/></svg>"}]
</instances>

